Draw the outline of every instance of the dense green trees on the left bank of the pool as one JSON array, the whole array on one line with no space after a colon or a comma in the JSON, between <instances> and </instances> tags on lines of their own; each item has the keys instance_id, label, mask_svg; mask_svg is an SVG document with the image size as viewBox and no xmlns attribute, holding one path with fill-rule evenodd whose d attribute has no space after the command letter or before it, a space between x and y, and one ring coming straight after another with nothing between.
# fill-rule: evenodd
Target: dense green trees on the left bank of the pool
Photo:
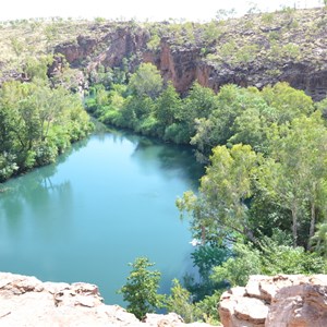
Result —
<instances>
[{"instance_id":1,"label":"dense green trees on the left bank of the pool","mask_svg":"<svg viewBox=\"0 0 327 327\"><path fill-rule=\"evenodd\" d=\"M0 89L0 182L53 162L92 129L78 95L50 87L45 62L29 62L33 81L7 82Z\"/></svg>"}]
</instances>

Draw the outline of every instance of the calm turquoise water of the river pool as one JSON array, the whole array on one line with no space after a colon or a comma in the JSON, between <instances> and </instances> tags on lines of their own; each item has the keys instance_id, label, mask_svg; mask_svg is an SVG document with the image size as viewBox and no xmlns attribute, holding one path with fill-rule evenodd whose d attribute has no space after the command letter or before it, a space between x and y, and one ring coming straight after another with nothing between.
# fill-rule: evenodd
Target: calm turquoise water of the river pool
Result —
<instances>
[{"instance_id":1,"label":"calm turquoise water of the river pool","mask_svg":"<svg viewBox=\"0 0 327 327\"><path fill-rule=\"evenodd\" d=\"M190 149L119 132L93 135L56 165L1 185L0 270L96 283L106 303L122 304L116 291L128 263L147 256L168 292L192 269L191 233L174 202L202 172Z\"/></svg>"}]
</instances>

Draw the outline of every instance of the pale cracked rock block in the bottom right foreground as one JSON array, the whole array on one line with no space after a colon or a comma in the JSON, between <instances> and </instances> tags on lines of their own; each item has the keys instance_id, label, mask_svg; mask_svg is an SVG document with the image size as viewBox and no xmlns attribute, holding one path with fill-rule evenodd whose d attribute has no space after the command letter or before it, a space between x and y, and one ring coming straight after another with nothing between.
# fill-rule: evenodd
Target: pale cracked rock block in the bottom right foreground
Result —
<instances>
[{"instance_id":1,"label":"pale cracked rock block in the bottom right foreground","mask_svg":"<svg viewBox=\"0 0 327 327\"><path fill-rule=\"evenodd\" d=\"M225 327L327 326L327 275L251 276L219 305Z\"/></svg>"}]
</instances>

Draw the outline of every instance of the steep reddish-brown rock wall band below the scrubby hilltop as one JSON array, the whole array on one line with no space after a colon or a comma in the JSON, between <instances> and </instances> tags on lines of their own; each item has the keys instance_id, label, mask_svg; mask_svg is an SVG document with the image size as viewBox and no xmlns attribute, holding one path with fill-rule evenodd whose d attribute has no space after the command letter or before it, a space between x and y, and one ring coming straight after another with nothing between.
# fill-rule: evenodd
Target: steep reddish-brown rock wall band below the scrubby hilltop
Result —
<instances>
[{"instance_id":1,"label":"steep reddish-brown rock wall band below the scrubby hilltop","mask_svg":"<svg viewBox=\"0 0 327 327\"><path fill-rule=\"evenodd\" d=\"M271 63L215 66L203 60L199 47L177 46L168 38L162 38L159 50L149 51L146 47L148 40L149 34L145 29L118 27L100 39L96 36L80 36L75 43L57 46L55 52L63 53L72 66L81 66L83 60L90 58L90 61L83 63L88 66L88 71L99 63L105 66L119 66L123 58L134 56L134 61L130 62L131 71L134 71L142 61L152 62L160 70L165 81L172 81L181 94L185 94L194 81L215 92L228 83L262 88L284 81L295 88L305 90L315 100L327 96L327 64L324 66L322 63L323 65L317 66L308 61L289 62L278 68L280 71L278 76L271 76L268 72L276 69Z\"/></svg>"}]
</instances>

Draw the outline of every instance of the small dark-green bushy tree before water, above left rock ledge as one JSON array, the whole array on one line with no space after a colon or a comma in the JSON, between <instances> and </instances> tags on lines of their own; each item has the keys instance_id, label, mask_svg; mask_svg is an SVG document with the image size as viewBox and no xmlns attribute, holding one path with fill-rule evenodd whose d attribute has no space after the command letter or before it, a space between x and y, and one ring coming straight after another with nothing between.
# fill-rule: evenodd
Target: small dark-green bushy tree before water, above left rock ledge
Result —
<instances>
[{"instance_id":1,"label":"small dark-green bushy tree before water, above left rock ledge","mask_svg":"<svg viewBox=\"0 0 327 327\"><path fill-rule=\"evenodd\" d=\"M128 301L128 311L142 319L146 313L153 313L164 306L165 296L157 293L160 281L158 270L149 270L154 266L146 257L138 257L133 264L128 282L118 291Z\"/></svg>"}]
</instances>

